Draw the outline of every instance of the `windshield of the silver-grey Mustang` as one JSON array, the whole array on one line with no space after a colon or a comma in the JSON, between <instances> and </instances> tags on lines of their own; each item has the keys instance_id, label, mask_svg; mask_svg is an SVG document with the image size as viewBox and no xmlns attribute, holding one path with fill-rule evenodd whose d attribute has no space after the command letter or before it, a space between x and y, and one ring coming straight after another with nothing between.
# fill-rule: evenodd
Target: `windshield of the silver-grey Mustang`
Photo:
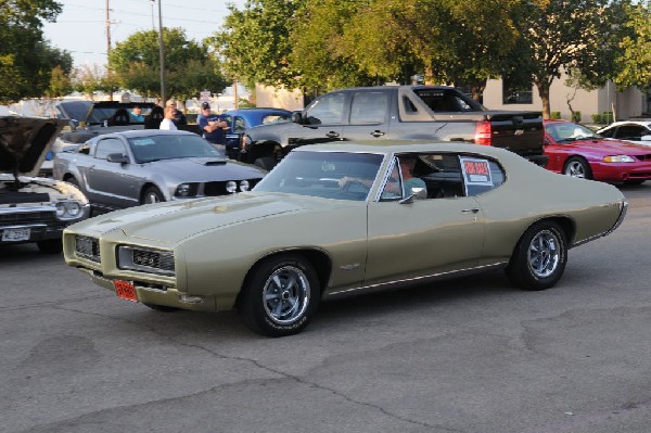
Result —
<instances>
[{"instance_id":1,"label":"windshield of the silver-grey Mustang","mask_svg":"<svg viewBox=\"0 0 651 433\"><path fill-rule=\"evenodd\" d=\"M129 138L129 145L138 163L176 160L183 157L226 158L222 151L217 150L203 138L195 135L152 135Z\"/></svg>"}]
</instances>

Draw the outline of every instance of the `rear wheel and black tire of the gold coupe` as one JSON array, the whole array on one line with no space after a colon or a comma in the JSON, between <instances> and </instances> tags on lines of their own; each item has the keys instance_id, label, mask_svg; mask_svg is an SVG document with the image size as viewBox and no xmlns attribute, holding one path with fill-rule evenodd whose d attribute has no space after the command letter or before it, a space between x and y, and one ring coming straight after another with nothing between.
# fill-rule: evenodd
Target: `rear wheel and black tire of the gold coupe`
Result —
<instances>
[{"instance_id":1,"label":"rear wheel and black tire of the gold coupe","mask_svg":"<svg viewBox=\"0 0 651 433\"><path fill-rule=\"evenodd\" d=\"M520 238L506 271L513 285L545 290L559 281L566 263L567 244L563 230L556 222L540 221Z\"/></svg>"}]
</instances>

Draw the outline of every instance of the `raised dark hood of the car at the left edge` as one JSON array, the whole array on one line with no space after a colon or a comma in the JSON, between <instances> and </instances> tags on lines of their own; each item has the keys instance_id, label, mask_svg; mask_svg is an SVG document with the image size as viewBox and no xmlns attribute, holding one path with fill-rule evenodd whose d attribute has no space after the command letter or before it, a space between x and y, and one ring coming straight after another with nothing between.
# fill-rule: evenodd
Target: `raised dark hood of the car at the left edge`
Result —
<instances>
[{"instance_id":1,"label":"raised dark hood of the car at the left edge","mask_svg":"<svg viewBox=\"0 0 651 433\"><path fill-rule=\"evenodd\" d=\"M36 176L64 119L0 116L0 173Z\"/></svg>"}]
</instances>

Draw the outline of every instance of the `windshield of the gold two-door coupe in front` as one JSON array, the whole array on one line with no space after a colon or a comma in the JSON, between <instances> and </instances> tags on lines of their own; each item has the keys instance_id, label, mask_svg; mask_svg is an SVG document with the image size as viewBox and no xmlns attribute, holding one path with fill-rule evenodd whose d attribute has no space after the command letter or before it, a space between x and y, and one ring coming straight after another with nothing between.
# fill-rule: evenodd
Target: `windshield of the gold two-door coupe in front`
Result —
<instances>
[{"instance_id":1,"label":"windshield of the gold two-door coupe in front","mask_svg":"<svg viewBox=\"0 0 651 433\"><path fill-rule=\"evenodd\" d=\"M292 152L254 191L363 201L378 177L383 157L370 153ZM347 182L341 181L344 177Z\"/></svg>"}]
</instances>

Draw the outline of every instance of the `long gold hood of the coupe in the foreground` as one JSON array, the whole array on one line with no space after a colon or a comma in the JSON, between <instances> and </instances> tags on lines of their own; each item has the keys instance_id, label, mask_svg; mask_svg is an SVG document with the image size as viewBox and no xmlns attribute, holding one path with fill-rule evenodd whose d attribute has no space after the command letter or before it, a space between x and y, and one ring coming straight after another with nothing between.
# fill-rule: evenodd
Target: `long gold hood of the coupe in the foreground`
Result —
<instances>
[{"instance_id":1,"label":"long gold hood of the coupe in the foreground","mask_svg":"<svg viewBox=\"0 0 651 433\"><path fill-rule=\"evenodd\" d=\"M266 217L324 212L335 205L332 202L281 193L240 193L131 207L78 222L74 229L90 235L122 230L128 237L174 245L201 232L255 222ZM350 203L359 205L359 202ZM342 202L337 201L336 205L341 207Z\"/></svg>"}]
</instances>

